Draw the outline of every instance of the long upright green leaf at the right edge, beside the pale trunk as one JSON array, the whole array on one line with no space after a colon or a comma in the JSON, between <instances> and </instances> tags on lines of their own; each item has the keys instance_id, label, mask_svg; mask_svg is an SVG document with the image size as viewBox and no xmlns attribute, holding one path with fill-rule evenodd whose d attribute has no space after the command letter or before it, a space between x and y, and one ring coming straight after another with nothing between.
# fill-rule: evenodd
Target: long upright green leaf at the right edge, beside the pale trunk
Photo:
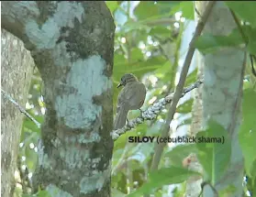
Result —
<instances>
[{"instance_id":1,"label":"long upright green leaf at the right edge, beside the pale trunk","mask_svg":"<svg viewBox=\"0 0 256 197\"><path fill-rule=\"evenodd\" d=\"M252 164L256 159L256 93L252 89L246 89L243 93L242 125L239 131L239 143L245 160L245 170L251 177Z\"/></svg>"}]
</instances>

